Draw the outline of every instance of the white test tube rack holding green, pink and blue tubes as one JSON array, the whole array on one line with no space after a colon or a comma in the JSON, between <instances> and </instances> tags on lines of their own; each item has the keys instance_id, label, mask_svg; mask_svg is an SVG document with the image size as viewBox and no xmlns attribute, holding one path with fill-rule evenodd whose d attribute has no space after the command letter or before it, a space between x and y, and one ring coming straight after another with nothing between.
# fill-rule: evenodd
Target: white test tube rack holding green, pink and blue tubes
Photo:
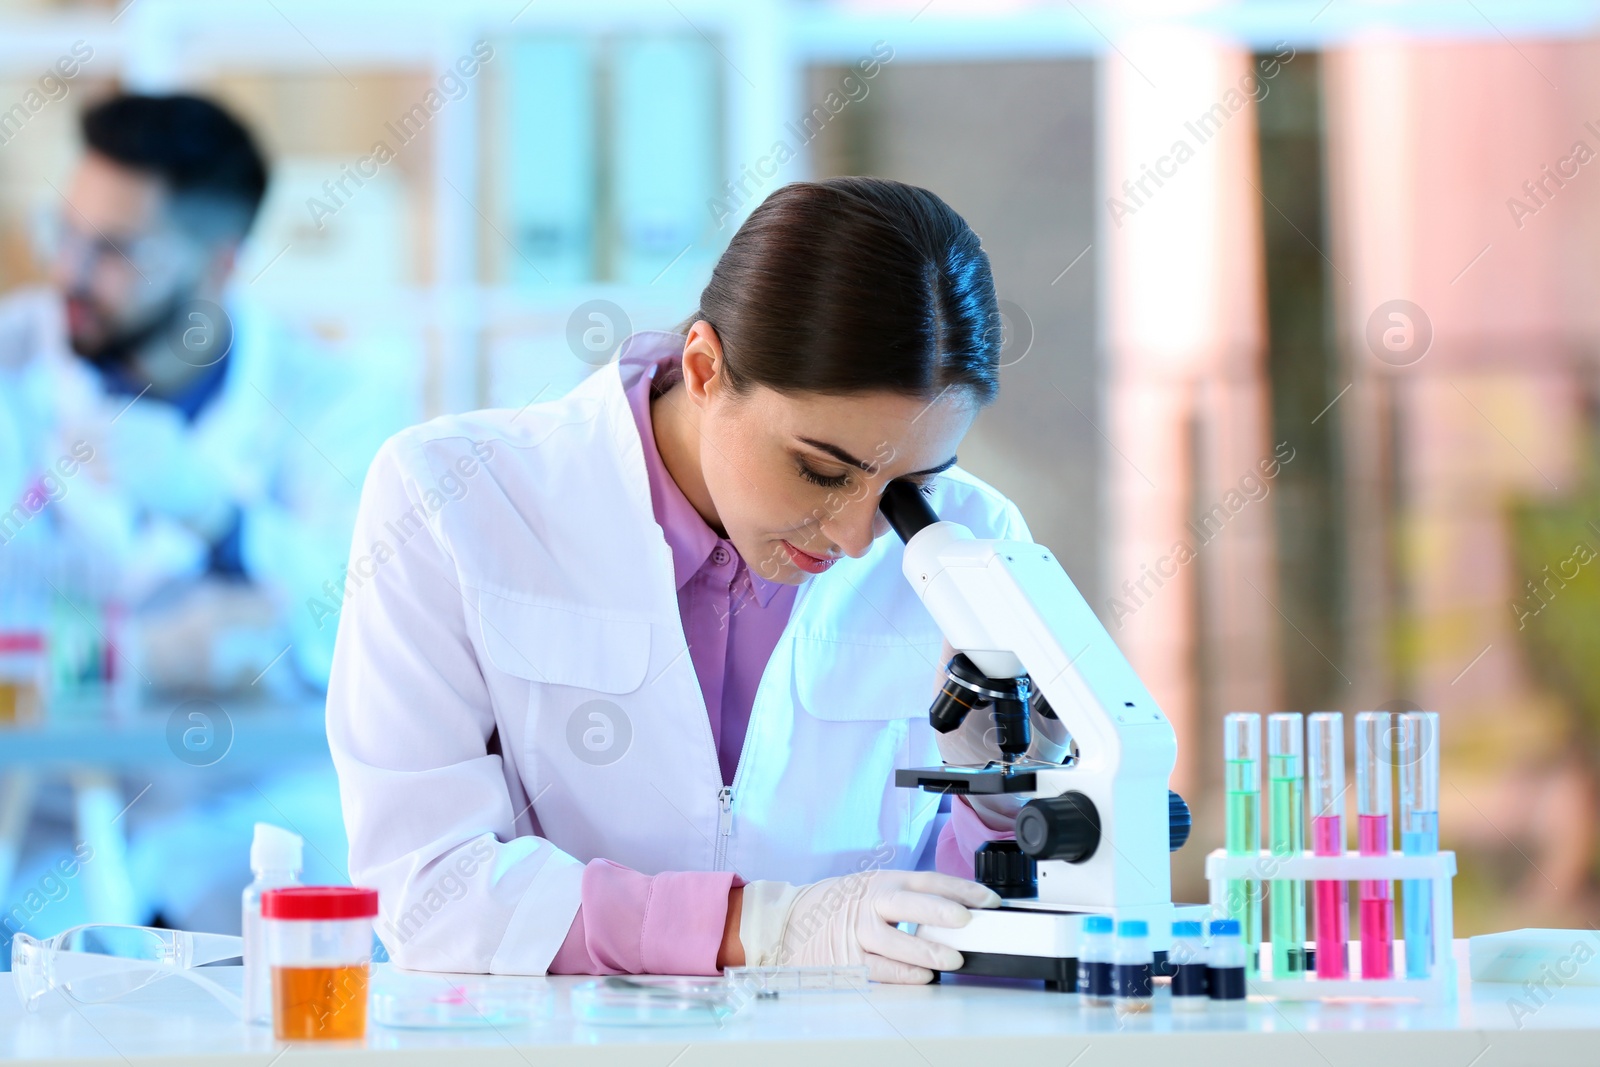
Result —
<instances>
[{"instance_id":1,"label":"white test tube rack holding green, pink and blue tubes","mask_svg":"<svg viewBox=\"0 0 1600 1067\"><path fill-rule=\"evenodd\" d=\"M1429 856L1406 856L1390 851L1387 856L1362 856L1347 851L1342 856L1277 856L1267 849L1254 856L1229 856L1224 849L1208 853L1205 877L1211 883L1213 899L1229 880L1243 881L1405 881L1422 880L1434 886L1434 953L1429 977L1363 979L1360 952L1350 953L1350 977L1328 981L1315 974L1294 979L1272 977L1272 953L1261 947L1261 973L1251 977L1250 992L1278 1000L1326 1000L1326 998L1394 998L1437 1003L1456 995L1454 918L1451 913L1451 880L1456 877L1456 854L1450 851ZM1267 907L1272 897L1267 896ZM1398 901L1395 904L1398 907ZM1354 937L1352 937L1354 942ZM1405 973L1405 950L1395 941L1395 973Z\"/></svg>"}]
</instances>

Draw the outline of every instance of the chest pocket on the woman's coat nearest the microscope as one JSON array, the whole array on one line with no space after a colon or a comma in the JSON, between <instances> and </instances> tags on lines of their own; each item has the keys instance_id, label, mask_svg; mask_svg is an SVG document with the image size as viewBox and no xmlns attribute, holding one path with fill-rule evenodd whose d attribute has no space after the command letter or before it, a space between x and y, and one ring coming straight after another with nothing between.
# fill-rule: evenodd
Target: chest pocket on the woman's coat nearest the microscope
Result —
<instances>
[{"instance_id":1,"label":"chest pocket on the woman's coat nearest the microscope","mask_svg":"<svg viewBox=\"0 0 1600 1067\"><path fill-rule=\"evenodd\" d=\"M795 699L814 718L866 721L926 715L942 638L795 637Z\"/></svg>"}]
</instances>

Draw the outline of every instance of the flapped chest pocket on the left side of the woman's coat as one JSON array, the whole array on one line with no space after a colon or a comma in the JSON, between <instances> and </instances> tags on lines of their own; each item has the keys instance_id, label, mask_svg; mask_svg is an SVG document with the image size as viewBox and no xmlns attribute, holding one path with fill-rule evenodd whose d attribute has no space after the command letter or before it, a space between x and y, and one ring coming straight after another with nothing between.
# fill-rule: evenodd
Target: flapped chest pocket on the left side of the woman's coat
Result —
<instances>
[{"instance_id":1,"label":"flapped chest pocket on the left side of the woman's coat","mask_svg":"<svg viewBox=\"0 0 1600 1067\"><path fill-rule=\"evenodd\" d=\"M595 693L632 693L650 664L650 622L478 592L483 651L509 675Z\"/></svg>"}]
</instances>

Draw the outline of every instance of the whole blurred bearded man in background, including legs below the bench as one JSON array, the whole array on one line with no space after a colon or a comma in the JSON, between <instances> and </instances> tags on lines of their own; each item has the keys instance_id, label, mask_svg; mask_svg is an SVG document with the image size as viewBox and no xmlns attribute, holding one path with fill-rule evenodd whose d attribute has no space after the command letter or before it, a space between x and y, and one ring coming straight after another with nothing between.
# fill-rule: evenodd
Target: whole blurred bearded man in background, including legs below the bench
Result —
<instances>
[{"instance_id":1,"label":"whole blurred bearded man in background, including legs below the bench","mask_svg":"<svg viewBox=\"0 0 1600 1067\"><path fill-rule=\"evenodd\" d=\"M152 712L178 704L171 689L304 701L336 630L307 600L342 585L362 477L405 410L242 298L267 165L234 117L123 94L82 131L56 189L51 283L0 301L0 565L13 585L45 581L53 605L101 611L91 629ZM133 899L114 915L91 904L96 920L237 928L256 819L342 862L331 769L219 792L174 755L123 790L155 779L123 822ZM54 813L58 840L35 862L72 832L69 801L40 801L34 837ZM66 918L58 907L51 926Z\"/></svg>"}]
</instances>

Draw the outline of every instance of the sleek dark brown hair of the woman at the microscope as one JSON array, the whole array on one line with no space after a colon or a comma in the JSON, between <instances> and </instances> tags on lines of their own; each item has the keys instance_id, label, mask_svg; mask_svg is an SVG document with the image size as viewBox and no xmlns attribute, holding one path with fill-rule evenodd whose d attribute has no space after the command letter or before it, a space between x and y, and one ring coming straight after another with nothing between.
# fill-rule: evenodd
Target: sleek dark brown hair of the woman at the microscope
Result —
<instances>
[{"instance_id":1,"label":"sleek dark brown hair of the woman at the microscope","mask_svg":"<svg viewBox=\"0 0 1600 1067\"><path fill-rule=\"evenodd\" d=\"M736 394L998 390L989 256L950 205L882 178L795 182L733 235L701 293Z\"/></svg>"}]
</instances>

